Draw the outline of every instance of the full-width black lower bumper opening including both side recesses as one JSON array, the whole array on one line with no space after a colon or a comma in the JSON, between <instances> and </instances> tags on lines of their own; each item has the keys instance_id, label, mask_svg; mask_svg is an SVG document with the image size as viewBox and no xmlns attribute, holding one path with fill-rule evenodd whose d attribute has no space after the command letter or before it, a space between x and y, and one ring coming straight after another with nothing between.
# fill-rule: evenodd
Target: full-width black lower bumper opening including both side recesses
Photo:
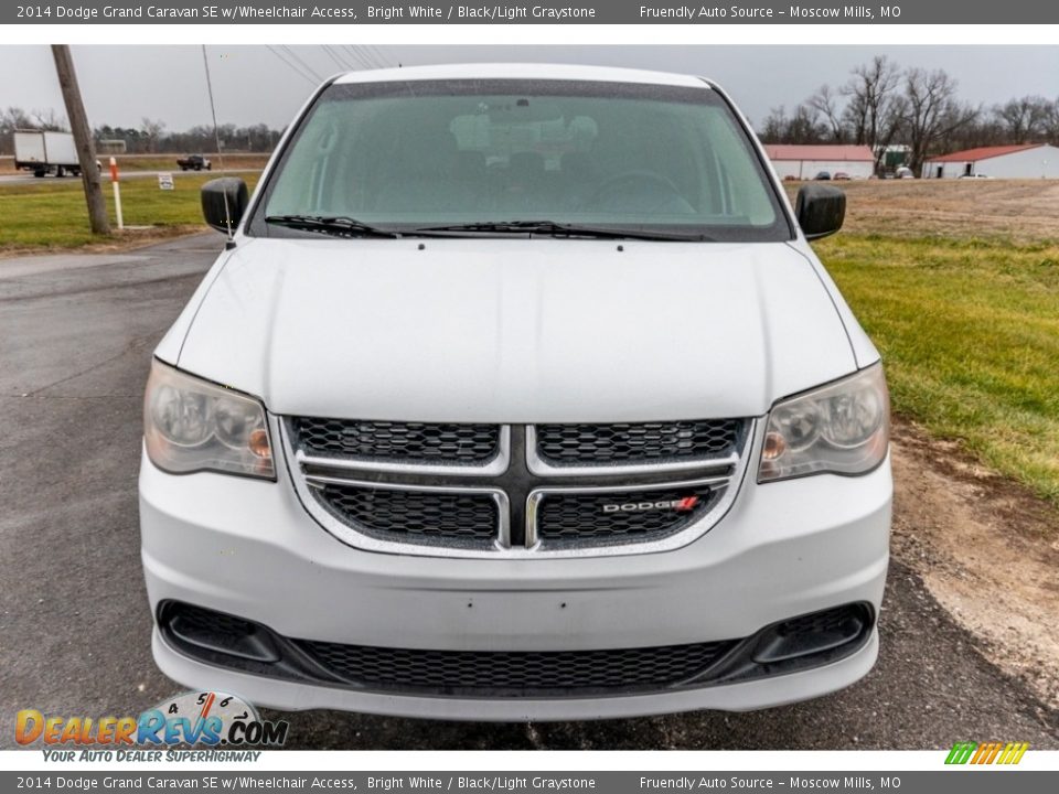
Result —
<instances>
[{"instance_id":1,"label":"full-width black lower bumper opening including both side recesses","mask_svg":"<svg viewBox=\"0 0 1059 794\"><path fill-rule=\"evenodd\" d=\"M158 627L185 656L253 675L422 696L578 697L665 691L811 669L864 647L867 603L686 645L597 651L438 651L296 640L261 623L162 601Z\"/></svg>"}]
</instances>

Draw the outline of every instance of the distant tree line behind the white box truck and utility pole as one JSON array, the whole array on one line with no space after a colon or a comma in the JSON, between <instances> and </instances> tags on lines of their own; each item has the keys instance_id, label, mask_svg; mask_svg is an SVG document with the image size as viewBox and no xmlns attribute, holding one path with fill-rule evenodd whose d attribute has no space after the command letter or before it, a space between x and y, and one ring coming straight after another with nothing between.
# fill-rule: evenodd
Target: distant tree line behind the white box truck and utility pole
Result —
<instances>
[{"instance_id":1,"label":"distant tree line behind the white box truck and utility pole","mask_svg":"<svg viewBox=\"0 0 1059 794\"><path fill-rule=\"evenodd\" d=\"M14 130L42 129L65 132L69 129L65 116L54 109L24 110L9 107L0 109L0 155L14 153ZM138 127L111 127L103 125L93 130L96 146L105 141L124 141L129 154L213 152L217 138L223 151L270 152L279 140L281 130L258 124L248 127L221 125L217 135L213 127L199 125L182 132L170 131L164 121L143 118Z\"/></svg>"}]
</instances>

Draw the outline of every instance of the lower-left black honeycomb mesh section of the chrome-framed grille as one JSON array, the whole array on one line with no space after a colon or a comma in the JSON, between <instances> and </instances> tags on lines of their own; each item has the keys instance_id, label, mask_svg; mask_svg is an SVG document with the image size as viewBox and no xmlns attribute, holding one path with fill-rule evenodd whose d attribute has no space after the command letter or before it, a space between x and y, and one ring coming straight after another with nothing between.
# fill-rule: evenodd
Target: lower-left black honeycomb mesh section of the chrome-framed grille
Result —
<instances>
[{"instance_id":1,"label":"lower-left black honeycomb mesh section of the chrome-framed grille","mask_svg":"<svg viewBox=\"0 0 1059 794\"><path fill-rule=\"evenodd\" d=\"M492 540L500 509L489 493L408 491L325 484L312 489L336 518L362 532L393 538Z\"/></svg>"}]
</instances>

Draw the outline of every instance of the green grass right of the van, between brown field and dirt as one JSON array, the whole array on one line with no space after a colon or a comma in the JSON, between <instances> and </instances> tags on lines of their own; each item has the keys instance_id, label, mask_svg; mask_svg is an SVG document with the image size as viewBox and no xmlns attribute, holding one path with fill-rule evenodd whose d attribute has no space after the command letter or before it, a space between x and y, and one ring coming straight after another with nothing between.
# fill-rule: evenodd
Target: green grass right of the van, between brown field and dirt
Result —
<instances>
[{"instance_id":1,"label":"green grass right of the van, between brown field and dirt","mask_svg":"<svg viewBox=\"0 0 1059 794\"><path fill-rule=\"evenodd\" d=\"M895 410L1059 505L1059 243L841 234L816 249Z\"/></svg>"}]
</instances>

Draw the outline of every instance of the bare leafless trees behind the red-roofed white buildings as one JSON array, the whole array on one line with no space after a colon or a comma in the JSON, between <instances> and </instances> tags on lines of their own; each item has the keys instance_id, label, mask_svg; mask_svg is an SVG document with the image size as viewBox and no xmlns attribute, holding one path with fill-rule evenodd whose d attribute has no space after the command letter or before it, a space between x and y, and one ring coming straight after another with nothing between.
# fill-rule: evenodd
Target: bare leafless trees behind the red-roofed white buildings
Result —
<instances>
[{"instance_id":1,"label":"bare leafless trees behind the red-roofed white buildings","mask_svg":"<svg viewBox=\"0 0 1059 794\"><path fill-rule=\"evenodd\" d=\"M958 89L944 69L902 68L878 55L792 111L772 108L758 133L766 143L867 146L877 172L888 147L906 147L905 164L916 173L929 157L950 151L1059 141L1059 98L1030 95L984 107L961 100Z\"/></svg>"}]
</instances>

